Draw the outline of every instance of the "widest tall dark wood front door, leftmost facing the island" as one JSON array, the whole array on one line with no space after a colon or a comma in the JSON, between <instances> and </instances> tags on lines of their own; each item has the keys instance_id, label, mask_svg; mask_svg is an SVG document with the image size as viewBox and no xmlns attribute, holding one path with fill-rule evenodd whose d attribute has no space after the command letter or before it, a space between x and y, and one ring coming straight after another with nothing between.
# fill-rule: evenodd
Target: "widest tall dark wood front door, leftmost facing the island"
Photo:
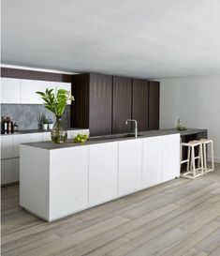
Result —
<instances>
[{"instance_id":1,"label":"widest tall dark wood front door, leftmost facing the island","mask_svg":"<svg viewBox=\"0 0 220 256\"><path fill-rule=\"evenodd\" d=\"M90 74L91 135L111 133L112 76Z\"/></svg>"}]
</instances>

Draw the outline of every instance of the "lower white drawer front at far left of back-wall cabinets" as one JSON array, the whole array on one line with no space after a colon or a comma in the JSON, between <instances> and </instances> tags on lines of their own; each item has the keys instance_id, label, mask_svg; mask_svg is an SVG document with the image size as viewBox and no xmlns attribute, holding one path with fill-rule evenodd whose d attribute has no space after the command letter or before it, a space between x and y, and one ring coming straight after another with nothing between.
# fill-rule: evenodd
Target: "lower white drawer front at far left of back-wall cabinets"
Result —
<instances>
[{"instance_id":1,"label":"lower white drawer front at far left of back-wall cabinets","mask_svg":"<svg viewBox=\"0 0 220 256\"><path fill-rule=\"evenodd\" d=\"M1 160L1 184L13 181L13 158Z\"/></svg>"}]
</instances>

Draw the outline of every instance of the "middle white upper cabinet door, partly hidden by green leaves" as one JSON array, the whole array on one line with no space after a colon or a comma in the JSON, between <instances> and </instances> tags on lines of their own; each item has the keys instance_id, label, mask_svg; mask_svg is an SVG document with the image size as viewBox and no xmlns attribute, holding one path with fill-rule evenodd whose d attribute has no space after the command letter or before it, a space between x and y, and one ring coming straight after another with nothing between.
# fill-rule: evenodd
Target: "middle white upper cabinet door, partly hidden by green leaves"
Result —
<instances>
[{"instance_id":1,"label":"middle white upper cabinet door, partly hidden by green leaves","mask_svg":"<svg viewBox=\"0 0 220 256\"><path fill-rule=\"evenodd\" d=\"M44 92L47 88L56 89L56 83L50 81L21 80L22 104L42 104L37 91Z\"/></svg>"}]
</instances>

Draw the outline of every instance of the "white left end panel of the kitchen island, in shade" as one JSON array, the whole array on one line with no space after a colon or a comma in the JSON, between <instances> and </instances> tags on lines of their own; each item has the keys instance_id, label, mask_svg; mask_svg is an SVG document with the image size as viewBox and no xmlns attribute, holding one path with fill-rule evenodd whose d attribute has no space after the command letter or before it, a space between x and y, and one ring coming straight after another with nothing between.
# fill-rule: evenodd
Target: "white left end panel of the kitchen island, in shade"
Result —
<instances>
[{"instance_id":1,"label":"white left end panel of the kitchen island, in shade","mask_svg":"<svg viewBox=\"0 0 220 256\"><path fill-rule=\"evenodd\" d=\"M50 151L20 146L20 205L27 211L49 219Z\"/></svg>"}]
</instances>

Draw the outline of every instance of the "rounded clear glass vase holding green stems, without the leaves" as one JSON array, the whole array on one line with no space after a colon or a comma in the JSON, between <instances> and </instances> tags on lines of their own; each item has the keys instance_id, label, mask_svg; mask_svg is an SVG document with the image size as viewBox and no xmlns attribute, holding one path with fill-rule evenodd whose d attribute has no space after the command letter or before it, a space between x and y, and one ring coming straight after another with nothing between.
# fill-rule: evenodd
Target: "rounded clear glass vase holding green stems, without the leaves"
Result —
<instances>
[{"instance_id":1,"label":"rounded clear glass vase holding green stems, without the leaves","mask_svg":"<svg viewBox=\"0 0 220 256\"><path fill-rule=\"evenodd\" d=\"M67 140L67 131L62 127L60 117L56 117L55 124L51 129L51 140L53 143L65 143Z\"/></svg>"}]
</instances>

